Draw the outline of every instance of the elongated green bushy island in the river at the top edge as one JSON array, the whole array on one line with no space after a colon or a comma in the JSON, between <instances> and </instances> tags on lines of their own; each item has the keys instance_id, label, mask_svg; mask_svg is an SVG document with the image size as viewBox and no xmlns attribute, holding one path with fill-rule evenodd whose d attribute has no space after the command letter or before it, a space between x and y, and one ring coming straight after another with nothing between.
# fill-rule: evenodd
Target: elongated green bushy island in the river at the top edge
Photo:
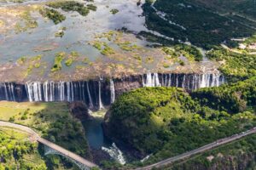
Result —
<instances>
[{"instance_id":1,"label":"elongated green bushy island in the river at the top edge","mask_svg":"<svg viewBox=\"0 0 256 170\"><path fill-rule=\"evenodd\" d=\"M90 10L96 10L96 7L93 5L88 5L87 7L84 7L84 3L79 3L75 1L50 2L47 3L47 5L51 8L61 8L66 12L76 11L83 16L89 14Z\"/></svg>"}]
</instances>

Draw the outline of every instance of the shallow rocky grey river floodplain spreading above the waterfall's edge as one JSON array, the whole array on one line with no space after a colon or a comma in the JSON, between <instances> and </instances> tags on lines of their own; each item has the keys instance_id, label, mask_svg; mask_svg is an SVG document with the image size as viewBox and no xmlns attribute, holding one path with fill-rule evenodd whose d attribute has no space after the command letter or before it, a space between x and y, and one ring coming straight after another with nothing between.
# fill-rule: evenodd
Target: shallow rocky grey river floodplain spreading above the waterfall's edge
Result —
<instances>
[{"instance_id":1,"label":"shallow rocky grey river floodplain spreading above the waterfall's edge","mask_svg":"<svg viewBox=\"0 0 256 170\"><path fill-rule=\"evenodd\" d=\"M134 75L148 70L198 72L205 65L212 70L218 68L218 63L200 64L186 55L184 58L183 53L173 58L162 48L154 48L154 43L137 38L137 33L148 29L144 26L143 9L137 6L136 0L78 2L84 7L96 8L86 16L54 8L59 16L65 17L55 23L39 12L49 8L49 2L2 5L1 79L15 82L79 80ZM112 13L114 9L119 12ZM6 20L7 10L16 15L9 14ZM64 55L56 64L58 54ZM74 58L72 54L77 56ZM41 58L35 62L38 55ZM22 65L17 62L20 59L24 59Z\"/></svg>"}]
</instances>

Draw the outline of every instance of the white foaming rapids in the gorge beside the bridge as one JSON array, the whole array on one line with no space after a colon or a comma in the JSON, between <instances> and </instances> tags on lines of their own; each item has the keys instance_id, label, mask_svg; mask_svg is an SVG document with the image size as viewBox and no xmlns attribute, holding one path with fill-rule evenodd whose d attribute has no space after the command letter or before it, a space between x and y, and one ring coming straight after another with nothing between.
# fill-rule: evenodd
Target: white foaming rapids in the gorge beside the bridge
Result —
<instances>
[{"instance_id":1,"label":"white foaming rapids in the gorge beside the bridge","mask_svg":"<svg viewBox=\"0 0 256 170\"><path fill-rule=\"evenodd\" d=\"M115 161L118 161L120 164L125 165L125 157L119 148L113 143L109 148L103 147L102 150L106 151L109 156L111 156Z\"/></svg>"}]
</instances>

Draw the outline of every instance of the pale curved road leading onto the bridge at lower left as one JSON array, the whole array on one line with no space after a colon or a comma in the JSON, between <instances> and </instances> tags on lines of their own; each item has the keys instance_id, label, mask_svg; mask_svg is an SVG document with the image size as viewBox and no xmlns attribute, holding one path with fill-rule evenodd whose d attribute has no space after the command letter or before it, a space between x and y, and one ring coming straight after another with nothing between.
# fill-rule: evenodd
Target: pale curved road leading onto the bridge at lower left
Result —
<instances>
[{"instance_id":1,"label":"pale curved road leading onto the bridge at lower left","mask_svg":"<svg viewBox=\"0 0 256 170\"><path fill-rule=\"evenodd\" d=\"M95 163L91 162L91 161L87 161L85 160L83 157L74 154L71 151L68 151L64 148L62 148L61 146L54 144L52 142L49 142L46 139L41 138L38 133L36 133L35 131L33 131L31 128L26 127L26 126L22 126L19 124L15 124L15 123L11 123L11 122L3 122L0 121L0 127L12 127L12 128L17 128L19 130L22 130L23 132L26 132L28 134L30 134L32 136L33 139L36 139L39 143L41 144L45 144L47 145L49 148L56 150L58 152L61 152L61 154L75 160L75 161L79 161L80 163L84 164L86 167L98 167Z\"/></svg>"}]
</instances>

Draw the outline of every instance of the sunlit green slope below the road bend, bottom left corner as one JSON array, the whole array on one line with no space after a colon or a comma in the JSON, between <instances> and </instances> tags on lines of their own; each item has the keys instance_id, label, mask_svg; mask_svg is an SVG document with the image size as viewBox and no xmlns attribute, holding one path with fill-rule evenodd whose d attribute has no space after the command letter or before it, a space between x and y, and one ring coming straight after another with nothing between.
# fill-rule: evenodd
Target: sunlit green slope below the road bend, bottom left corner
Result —
<instances>
[{"instance_id":1,"label":"sunlit green slope below the road bend, bottom left corner","mask_svg":"<svg viewBox=\"0 0 256 170\"><path fill-rule=\"evenodd\" d=\"M32 143L25 133L0 127L0 169L40 169L46 164L38 153L38 144Z\"/></svg>"}]
</instances>

